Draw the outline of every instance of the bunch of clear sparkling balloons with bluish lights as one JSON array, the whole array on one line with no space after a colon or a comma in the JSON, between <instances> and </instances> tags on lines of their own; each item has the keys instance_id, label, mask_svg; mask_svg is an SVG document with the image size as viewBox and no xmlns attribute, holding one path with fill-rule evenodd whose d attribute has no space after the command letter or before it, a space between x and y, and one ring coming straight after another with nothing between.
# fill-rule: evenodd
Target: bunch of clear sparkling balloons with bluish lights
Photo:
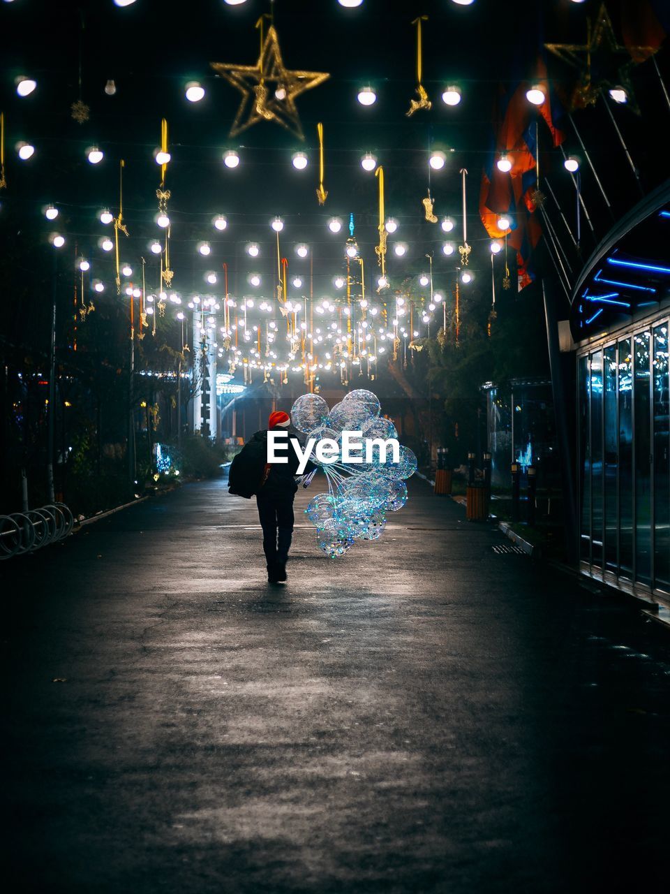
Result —
<instances>
[{"instance_id":1,"label":"bunch of clear sparkling balloons with bluish lights","mask_svg":"<svg viewBox=\"0 0 670 894\"><path fill-rule=\"evenodd\" d=\"M343 431L362 432L363 439L397 438L389 419L380 417L381 406L373 392L357 389L332 409L319 394L303 394L291 408L298 431L311 438L329 438L340 443ZM374 445L371 462L322 463L328 492L317 493L309 502L307 518L316 528L316 543L331 559L343 555L356 540L378 540L386 527L387 512L402 509L407 502L406 478L416 471L415 454L400 446L399 461L388 451L385 461ZM313 473L314 474L314 473Z\"/></svg>"}]
</instances>

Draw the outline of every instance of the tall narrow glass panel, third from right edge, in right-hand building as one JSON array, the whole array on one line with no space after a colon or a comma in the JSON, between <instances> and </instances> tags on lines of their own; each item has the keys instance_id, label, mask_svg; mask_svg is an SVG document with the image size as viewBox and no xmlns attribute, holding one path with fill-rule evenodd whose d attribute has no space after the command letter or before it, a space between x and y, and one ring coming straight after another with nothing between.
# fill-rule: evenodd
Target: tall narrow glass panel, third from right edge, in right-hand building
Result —
<instances>
[{"instance_id":1,"label":"tall narrow glass panel, third from right edge, in right-hand building","mask_svg":"<svg viewBox=\"0 0 670 894\"><path fill-rule=\"evenodd\" d=\"M632 578L632 362L631 341L618 344L619 572Z\"/></svg>"}]
</instances>

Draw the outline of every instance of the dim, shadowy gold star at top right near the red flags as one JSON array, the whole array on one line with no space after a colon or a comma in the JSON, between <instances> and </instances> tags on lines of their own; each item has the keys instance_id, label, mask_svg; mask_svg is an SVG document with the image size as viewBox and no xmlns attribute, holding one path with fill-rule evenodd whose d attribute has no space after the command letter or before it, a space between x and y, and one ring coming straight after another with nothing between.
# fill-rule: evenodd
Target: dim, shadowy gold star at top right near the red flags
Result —
<instances>
[{"instance_id":1,"label":"dim, shadowy gold star at top right near the red flags","mask_svg":"<svg viewBox=\"0 0 670 894\"><path fill-rule=\"evenodd\" d=\"M620 44L604 3L592 21L587 19L585 44L544 46L563 62L579 70L579 80L572 97L574 108L594 105L603 89L621 86L628 94L632 111L639 112L631 81L631 70L637 63L631 56L643 53L647 58L655 49L651 46L626 47Z\"/></svg>"}]
</instances>

